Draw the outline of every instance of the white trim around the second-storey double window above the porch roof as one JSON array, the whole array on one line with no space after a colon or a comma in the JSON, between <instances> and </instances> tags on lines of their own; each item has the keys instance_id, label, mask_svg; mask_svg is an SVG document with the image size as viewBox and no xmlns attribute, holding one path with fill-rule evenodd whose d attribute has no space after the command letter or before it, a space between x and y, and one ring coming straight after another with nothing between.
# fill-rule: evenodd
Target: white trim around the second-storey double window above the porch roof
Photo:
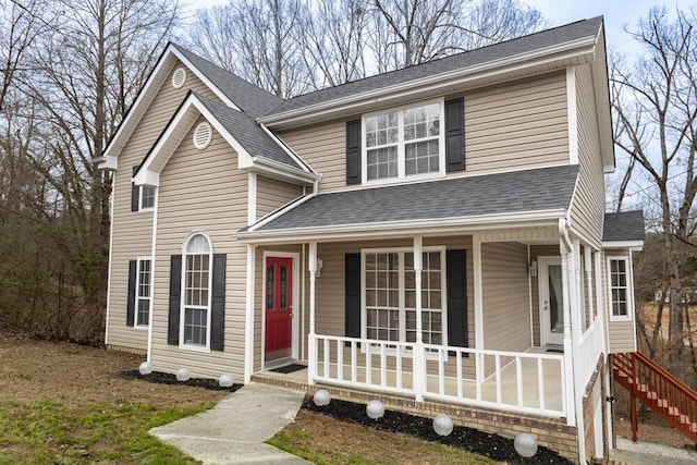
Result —
<instances>
[{"instance_id":1,"label":"white trim around the second-storey double window above the porch roof","mask_svg":"<svg viewBox=\"0 0 697 465\"><path fill-rule=\"evenodd\" d=\"M438 134L438 171L423 174L406 175L406 155L404 150L404 110L412 108L426 107L428 105L438 103L440 108L439 115L439 134ZM398 112L399 114L399 140L398 147L398 175L396 178L387 178L382 180L368 181L368 147L366 144L366 119L370 117L377 117L379 114ZM445 99L443 97L425 100L416 103L403 105L400 107L386 108L380 111L374 111L370 113L364 113L360 117L360 180L363 185L381 185L381 184L395 184L403 183L404 181L412 180L428 180L435 178L445 176Z\"/></svg>"}]
</instances>

